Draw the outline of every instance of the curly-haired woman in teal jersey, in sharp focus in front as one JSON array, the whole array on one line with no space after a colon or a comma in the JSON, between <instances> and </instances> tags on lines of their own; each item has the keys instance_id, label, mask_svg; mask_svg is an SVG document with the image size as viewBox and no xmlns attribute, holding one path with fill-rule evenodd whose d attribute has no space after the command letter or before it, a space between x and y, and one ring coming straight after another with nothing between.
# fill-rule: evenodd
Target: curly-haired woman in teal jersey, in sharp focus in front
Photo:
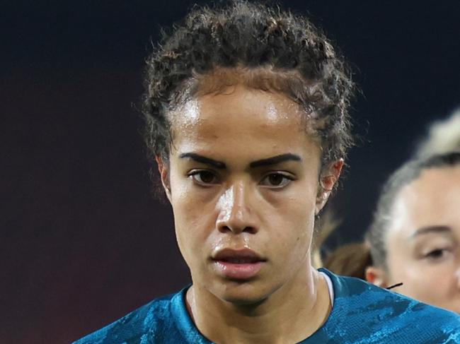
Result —
<instances>
[{"instance_id":1,"label":"curly-haired woman in teal jersey, in sharp focus in front","mask_svg":"<svg viewBox=\"0 0 460 344\"><path fill-rule=\"evenodd\" d=\"M309 20L246 1L195 8L147 64L146 143L192 285L76 343L459 339L454 314L311 265L353 85Z\"/></svg>"}]
</instances>

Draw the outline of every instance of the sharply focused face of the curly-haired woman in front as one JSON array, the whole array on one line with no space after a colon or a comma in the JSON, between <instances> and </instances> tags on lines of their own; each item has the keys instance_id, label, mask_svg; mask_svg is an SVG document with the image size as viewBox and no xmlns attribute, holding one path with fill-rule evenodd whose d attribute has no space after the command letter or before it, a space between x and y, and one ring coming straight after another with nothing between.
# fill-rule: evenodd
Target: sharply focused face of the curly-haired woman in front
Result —
<instances>
[{"instance_id":1,"label":"sharply focused face of the curly-haired woman in front","mask_svg":"<svg viewBox=\"0 0 460 344\"><path fill-rule=\"evenodd\" d=\"M301 116L284 95L239 85L171 114L160 172L195 289L252 303L305 275L327 195L317 197L320 149Z\"/></svg>"}]
</instances>

